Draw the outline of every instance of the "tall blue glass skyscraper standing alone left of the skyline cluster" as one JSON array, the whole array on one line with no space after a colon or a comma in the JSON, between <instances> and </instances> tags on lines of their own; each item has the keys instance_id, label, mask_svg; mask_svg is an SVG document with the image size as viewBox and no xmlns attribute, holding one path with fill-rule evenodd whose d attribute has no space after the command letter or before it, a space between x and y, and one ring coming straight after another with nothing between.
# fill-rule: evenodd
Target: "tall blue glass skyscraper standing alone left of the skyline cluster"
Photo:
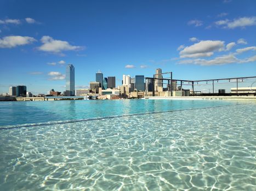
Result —
<instances>
[{"instance_id":1,"label":"tall blue glass skyscraper standing alone left of the skyline cluster","mask_svg":"<svg viewBox=\"0 0 256 191\"><path fill-rule=\"evenodd\" d=\"M72 64L67 64L66 67L65 96L75 96L75 67Z\"/></svg>"}]
</instances>

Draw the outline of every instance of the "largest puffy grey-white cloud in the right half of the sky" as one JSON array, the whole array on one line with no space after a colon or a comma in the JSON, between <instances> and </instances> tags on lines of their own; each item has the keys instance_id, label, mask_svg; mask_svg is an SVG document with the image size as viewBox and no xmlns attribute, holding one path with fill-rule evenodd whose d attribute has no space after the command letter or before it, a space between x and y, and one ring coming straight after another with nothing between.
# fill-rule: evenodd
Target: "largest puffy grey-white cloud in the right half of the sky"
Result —
<instances>
[{"instance_id":1,"label":"largest puffy grey-white cloud in the right half of the sky","mask_svg":"<svg viewBox=\"0 0 256 191\"><path fill-rule=\"evenodd\" d=\"M186 46L180 51L180 57L209 57L214 51L221 51L224 48L224 41L220 40L202 40L191 46Z\"/></svg>"}]
</instances>

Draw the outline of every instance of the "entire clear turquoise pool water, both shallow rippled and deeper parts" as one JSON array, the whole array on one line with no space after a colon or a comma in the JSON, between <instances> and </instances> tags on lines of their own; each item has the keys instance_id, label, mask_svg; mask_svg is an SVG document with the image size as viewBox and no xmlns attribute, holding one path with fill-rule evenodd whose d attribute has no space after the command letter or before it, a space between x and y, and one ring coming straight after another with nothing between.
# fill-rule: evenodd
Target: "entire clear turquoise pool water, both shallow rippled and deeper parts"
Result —
<instances>
[{"instance_id":1,"label":"entire clear turquoise pool water, both shallow rippled and deeper parts","mask_svg":"<svg viewBox=\"0 0 256 191\"><path fill-rule=\"evenodd\" d=\"M5 102L0 116L0 190L256 190L255 102Z\"/></svg>"}]
</instances>

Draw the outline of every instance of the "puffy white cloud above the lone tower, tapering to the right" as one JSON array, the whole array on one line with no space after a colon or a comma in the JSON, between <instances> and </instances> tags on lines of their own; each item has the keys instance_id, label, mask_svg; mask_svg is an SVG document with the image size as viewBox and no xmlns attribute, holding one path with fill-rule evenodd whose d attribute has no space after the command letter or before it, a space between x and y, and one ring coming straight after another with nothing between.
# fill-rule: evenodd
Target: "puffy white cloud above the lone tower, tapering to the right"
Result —
<instances>
[{"instance_id":1,"label":"puffy white cloud above the lone tower, tapering to the right","mask_svg":"<svg viewBox=\"0 0 256 191\"><path fill-rule=\"evenodd\" d=\"M49 36L43 36L41 42L43 45L39 46L38 49L45 52L61 53L61 51L82 49L82 46L72 46L67 41L54 40Z\"/></svg>"}]
</instances>

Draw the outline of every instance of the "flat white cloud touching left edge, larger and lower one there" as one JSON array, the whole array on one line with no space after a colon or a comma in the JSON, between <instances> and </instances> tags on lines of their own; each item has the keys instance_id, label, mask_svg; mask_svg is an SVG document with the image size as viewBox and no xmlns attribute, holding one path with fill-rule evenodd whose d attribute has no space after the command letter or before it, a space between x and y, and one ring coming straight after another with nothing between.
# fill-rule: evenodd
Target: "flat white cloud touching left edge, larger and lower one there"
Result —
<instances>
[{"instance_id":1,"label":"flat white cloud touching left edge, larger and lower one there","mask_svg":"<svg viewBox=\"0 0 256 191\"><path fill-rule=\"evenodd\" d=\"M0 48L11 48L25 44L31 44L36 39L32 37L8 36L0 39Z\"/></svg>"}]
</instances>

